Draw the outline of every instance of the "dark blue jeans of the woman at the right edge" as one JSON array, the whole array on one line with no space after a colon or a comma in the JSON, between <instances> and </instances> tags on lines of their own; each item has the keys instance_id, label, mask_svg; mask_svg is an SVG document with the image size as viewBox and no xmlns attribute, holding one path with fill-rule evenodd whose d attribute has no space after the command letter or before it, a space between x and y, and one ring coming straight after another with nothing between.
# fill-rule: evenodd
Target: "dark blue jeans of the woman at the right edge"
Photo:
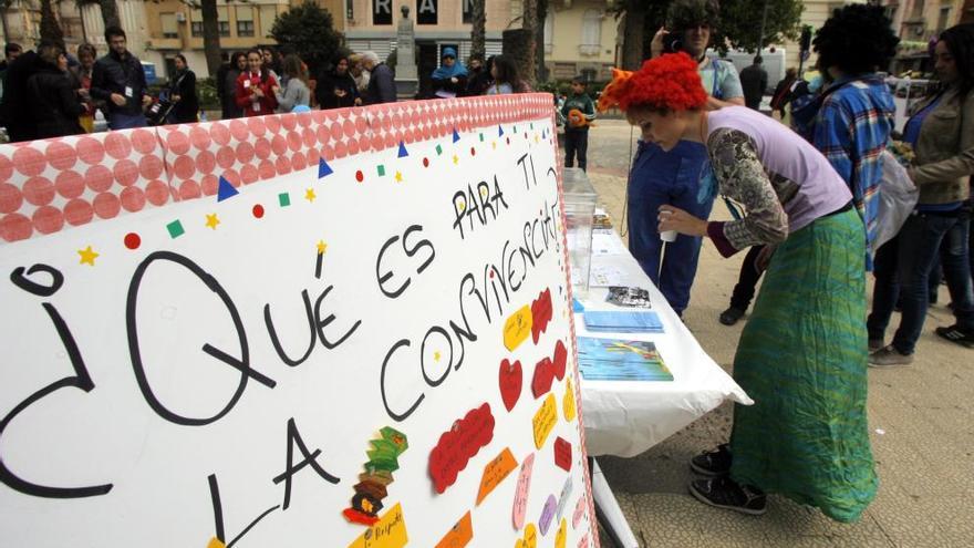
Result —
<instances>
[{"instance_id":1,"label":"dark blue jeans of the woman at the right edge","mask_svg":"<svg viewBox=\"0 0 974 548\"><path fill-rule=\"evenodd\" d=\"M957 325L965 330L974 329L970 224L970 213L966 210L956 216L912 215L900 234L877 251L872 313L867 321L870 340L883 338L897 296L902 292L902 318L892 344L900 353L913 353L930 306L930 272L937 256L951 292Z\"/></svg>"}]
</instances>

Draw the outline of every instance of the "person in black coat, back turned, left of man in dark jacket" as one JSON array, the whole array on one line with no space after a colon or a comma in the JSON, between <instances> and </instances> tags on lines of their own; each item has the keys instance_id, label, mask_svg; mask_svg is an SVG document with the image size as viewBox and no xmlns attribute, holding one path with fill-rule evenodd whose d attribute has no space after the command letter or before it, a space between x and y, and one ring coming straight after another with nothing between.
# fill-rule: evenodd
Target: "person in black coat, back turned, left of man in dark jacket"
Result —
<instances>
[{"instance_id":1,"label":"person in black coat, back turned, left of man in dark jacket","mask_svg":"<svg viewBox=\"0 0 974 548\"><path fill-rule=\"evenodd\" d=\"M68 77L68 56L61 48L53 44L38 48L37 70L28 79L27 89L37 138L84 133L77 122L84 106Z\"/></svg>"}]
</instances>

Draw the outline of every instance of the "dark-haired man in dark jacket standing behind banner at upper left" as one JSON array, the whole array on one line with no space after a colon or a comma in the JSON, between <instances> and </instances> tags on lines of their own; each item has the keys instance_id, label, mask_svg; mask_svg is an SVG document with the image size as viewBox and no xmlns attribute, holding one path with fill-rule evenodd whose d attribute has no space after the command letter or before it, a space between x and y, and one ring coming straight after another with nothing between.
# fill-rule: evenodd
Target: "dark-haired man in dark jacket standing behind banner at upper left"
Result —
<instances>
[{"instance_id":1,"label":"dark-haired man in dark jacket standing behind banner at upper left","mask_svg":"<svg viewBox=\"0 0 974 548\"><path fill-rule=\"evenodd\" d=\"M152 103L152 97L146 93L142 63L128 52L125 31L121 28L105 29L105 42L108 54L95 62L91 95L107 105L112 130L145 127L143 108Z\"/></svg>"}]
</instances>

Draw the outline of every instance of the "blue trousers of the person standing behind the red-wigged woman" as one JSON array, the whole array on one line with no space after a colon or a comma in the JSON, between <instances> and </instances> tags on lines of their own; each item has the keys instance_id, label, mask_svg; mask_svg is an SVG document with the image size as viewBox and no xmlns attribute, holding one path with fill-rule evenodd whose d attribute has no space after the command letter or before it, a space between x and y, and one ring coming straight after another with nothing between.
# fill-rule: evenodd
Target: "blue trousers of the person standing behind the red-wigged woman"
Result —
<instances>
[{"instance_id":1,"label":"blue trousers of the person standing behind the red-wigged woman","mask_svg":"<svg viewBox=\"0 0 974 548\"><path fill-rule=\"evenodd\" d=\"M714 200L701 203L697 196L705 161L706 148L698 143L681 141L669 153L640 143L629 177L629 250L677 314L690 303L701 238L678 235L664 255L656 218L664 204L702 219L711 215Z\"/></svg>"}]
</instances>

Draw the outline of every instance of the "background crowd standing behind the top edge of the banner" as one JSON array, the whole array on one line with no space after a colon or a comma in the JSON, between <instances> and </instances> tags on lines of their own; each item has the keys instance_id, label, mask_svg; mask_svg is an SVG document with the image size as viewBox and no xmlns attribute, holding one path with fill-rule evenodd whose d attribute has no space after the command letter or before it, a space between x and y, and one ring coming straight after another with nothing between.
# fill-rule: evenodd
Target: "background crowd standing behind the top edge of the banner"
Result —
<instances>
[{"instance_id":1,"label":"background crowd standing behind the top edge of the banner","mask_svg":"<svg viewBox=\"0 0 974 548\"><path fill-rule=\"evenodd\" d=\"M175 55L167 83L152 96L125 31L110 27L105 42L108 53L102 58L87 43L77 46L76 56L63 44L41 43L31 51L7 44L0 62L0 126L11 142L91 133L99 111L111 130L200 120L197 77L185 55ZM453 48L443 49L429 77L434 90L419 99L530 91L509 58L472 59L467 68ZM222 53L214 84L222 120L397 100L394 70L372 51L338 51L317 77L287 45Z\"/></svg>"}]
</instances>

